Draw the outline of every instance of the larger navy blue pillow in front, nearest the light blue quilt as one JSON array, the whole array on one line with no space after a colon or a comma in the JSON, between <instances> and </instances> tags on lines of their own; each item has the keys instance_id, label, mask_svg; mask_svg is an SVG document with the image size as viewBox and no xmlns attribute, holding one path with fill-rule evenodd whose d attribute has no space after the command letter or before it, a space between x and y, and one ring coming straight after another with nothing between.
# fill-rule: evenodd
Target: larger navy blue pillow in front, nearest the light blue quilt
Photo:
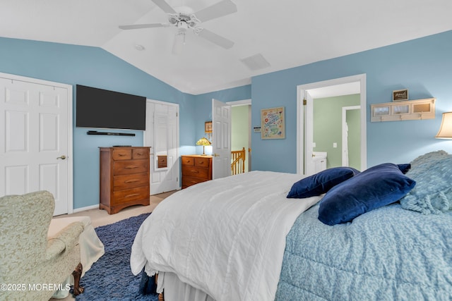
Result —
<instances>
[{"instance_id":1,"label":"larger navy blue pillow in front, nearest the light blue quilt","mask_svg":"<svg viewBox=\"0 0 452 301\"><path fill-rule=\"evenodd\" d=\"M397 202L416 185L396 164L385 163L336 185L321 199L319 220L346 223L373 209Z\"/></svg>"}]
</instances>

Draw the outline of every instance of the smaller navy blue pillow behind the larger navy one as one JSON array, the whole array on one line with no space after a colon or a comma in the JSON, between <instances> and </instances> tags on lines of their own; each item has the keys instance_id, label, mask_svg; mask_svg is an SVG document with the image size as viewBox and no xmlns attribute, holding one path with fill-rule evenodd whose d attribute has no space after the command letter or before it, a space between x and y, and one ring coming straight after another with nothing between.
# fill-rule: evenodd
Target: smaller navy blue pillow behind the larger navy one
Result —
<instances>
[{"instance_id":1,"label":"smaller navy blue pillow behind the larger navy one","mask_svg":"<svg viewBox=\"0 0 452 301\"><path fill-rule=\"evenodd\" d=\"M295 182L287 195L290 199L302 199L304 197L314 197L327 192L335 185L352 178L359 171L352 167L333 167L316 173L315 175L302 178Z\"/></svg>"}]
</instances>

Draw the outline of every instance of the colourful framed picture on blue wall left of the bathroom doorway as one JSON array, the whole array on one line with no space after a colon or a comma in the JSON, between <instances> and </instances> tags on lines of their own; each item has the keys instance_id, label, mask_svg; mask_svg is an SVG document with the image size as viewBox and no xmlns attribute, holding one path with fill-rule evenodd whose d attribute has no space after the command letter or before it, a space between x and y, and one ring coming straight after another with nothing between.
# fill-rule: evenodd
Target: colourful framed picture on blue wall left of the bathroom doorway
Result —
<instances>
[{"instance_id":1,"label":"colourful framed picture on blue wall left of the bathroom doorway","mask_svg":"<svg viewBox=\"0 0 452 301\"><path fill-rule=\"evenodd\" d=\"M285 139L283 106L261 109L261 139Z\"/></svg>"}]
</instances>

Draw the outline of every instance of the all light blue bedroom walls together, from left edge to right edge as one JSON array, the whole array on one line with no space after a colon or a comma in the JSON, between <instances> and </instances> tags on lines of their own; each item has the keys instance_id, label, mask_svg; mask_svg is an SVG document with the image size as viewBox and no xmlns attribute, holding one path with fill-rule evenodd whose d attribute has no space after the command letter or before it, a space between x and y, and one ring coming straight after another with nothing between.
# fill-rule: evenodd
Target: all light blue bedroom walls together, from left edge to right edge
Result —
<instances>
[{"instance_id":1,"label":"all light blue bedroom walls together, from left edge to right edge","mask_svg":"<svg viewBox=\"0 0 452 301\"><path fill-rule=\"evenodd\" d=\"M201 95L180 92L97 47L36 42L0 37L0 72L87 85L179 104L180 154L202 153L194 143L212 120L211 100L252 99L251 125L260 125L261 109L285 106L286 138L261 140L251 134L253 170L295 173L297 85L350 75L367 74L367 165L386 161L405 163L420 154L444 149L452 142L436 140L441 113L452 111L452 31L337 59L252 78L251 85ZM393 90L409 89L410 99L436 97L436 118L426 121L370 123L370 104L391 102ZM73 108L76 97L74 87ZM73 118L75 123L75 116ZM88 128L73 127L74 208L99 202L98 147L143 145L135 137L86 135Z\"/></svg>"}]
</instances>

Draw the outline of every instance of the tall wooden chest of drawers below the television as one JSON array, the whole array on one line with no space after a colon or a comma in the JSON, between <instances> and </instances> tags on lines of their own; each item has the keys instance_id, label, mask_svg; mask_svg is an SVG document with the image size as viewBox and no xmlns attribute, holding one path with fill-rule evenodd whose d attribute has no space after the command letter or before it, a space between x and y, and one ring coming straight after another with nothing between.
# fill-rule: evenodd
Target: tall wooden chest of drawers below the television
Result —
<instances>
[{"instance_id":1,"label":"tall wooden chest of drawers below the television","mask_svg":"<svg viewBox=\"0 0 452 301\"><path fill-rule=\"evenodd\" d=\"M100 147L99 209L149 204L149 147Z\"/></svg>"}]
</instances>

